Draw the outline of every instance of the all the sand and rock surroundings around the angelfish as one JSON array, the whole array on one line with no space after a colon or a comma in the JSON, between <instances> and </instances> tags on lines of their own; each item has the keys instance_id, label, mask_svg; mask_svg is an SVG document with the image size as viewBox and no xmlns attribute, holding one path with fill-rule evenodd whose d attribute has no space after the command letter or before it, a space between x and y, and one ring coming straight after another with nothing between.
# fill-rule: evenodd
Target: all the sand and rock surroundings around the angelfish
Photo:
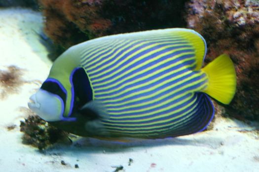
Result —
<instances>
[{"instance_id":1,"label":"all the sand and rock surroundings around the angelfish","mask_svg":"<svg viewBox=\"0 0 259 172\"><path fill-rule=\"evenodd\" d=\"M205 64L235 64L230 105L214 101L207 131L129 143L81 138L27 107L52 62L77 43L116 33L188 28L207 42ZM0 167L14 172L257 172L258 0L0 0Z\"/></svg>"}]
</instances>

